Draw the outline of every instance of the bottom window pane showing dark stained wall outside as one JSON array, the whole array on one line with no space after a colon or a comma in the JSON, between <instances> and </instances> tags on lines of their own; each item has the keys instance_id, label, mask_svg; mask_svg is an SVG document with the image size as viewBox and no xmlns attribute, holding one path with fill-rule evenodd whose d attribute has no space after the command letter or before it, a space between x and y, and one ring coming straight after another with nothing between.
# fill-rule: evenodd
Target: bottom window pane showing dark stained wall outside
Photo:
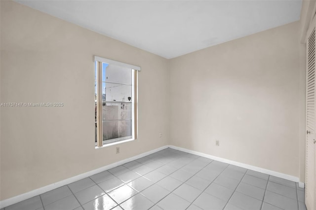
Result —
<instances>
[{"instance_id":1,"label":"bottom window pane showing dark stained wall outside","mask_svg":"<svg viewBox=\"0 0 316 210\"><path fill-rule=\"evenodd\" d=\"M132 136L131 120L103 122L103 140Z\"/></svg>"}]
</instances>

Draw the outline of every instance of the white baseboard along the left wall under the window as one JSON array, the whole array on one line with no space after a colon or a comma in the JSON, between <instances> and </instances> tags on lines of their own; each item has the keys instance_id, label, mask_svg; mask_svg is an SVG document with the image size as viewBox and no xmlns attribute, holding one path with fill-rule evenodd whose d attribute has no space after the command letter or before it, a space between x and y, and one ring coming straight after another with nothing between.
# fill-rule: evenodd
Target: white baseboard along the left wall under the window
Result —
<instances>
[{"instance_id":1,"label":"white baseboard along the left wall under the window","mask_svg":"<svg viewBox=\"0 0 316 210\"><path fill-rule=\"evenodd\" d=\"M151 151L148 151L148 152L145 152L145 153L142 153L142 154L139 154L139 155L136 155L136 156L133 156L133 157L130 157L130 158L118 161L116 163L113 163L113 164L110 164L110 165L107 165L107 166L104 166L104 167L101 167L101 168L98 168L98 169L95 169L95 170L92 170L92 171L89 171L89 172L86 172L86 173L83 173L83 174L80 174L80 175L76 175L76 176L73 176L73 177L70 177L70 178L67 178L67 179L55 182L53 184L46 185L44 187L40 187L38 189L32 190L32 191L27 192L27 193L23 193L21 195L18 195L18 196L12 197L12 198L8 198L6 200L0 201L0 209L2 209L4 207L7 207L7 206L10 206L12 204L16 204L18 202L24 201L26 199L32 198L34 196L40 195L42 193L48 192L50 190L56 189L58 187L62 187L64 185L70 184L70 183L72 183L74 181L78 181L80 179L89 177L91 175L98 174L100 172L103 172L103 171L106 171L106 170L109 170L109 169L112 169L114 167L120 166L122 164L128 163L128 162L136 160L138 158L141 158L141 157L153 154L155 152L158 152L158 151L160 151L162 149L165 149L165 148L168 148L168 147L169 146L165 145L165 146L159 147L157 149L154 149L154 150L151 150Z\"/></svg>"}]
</instances>

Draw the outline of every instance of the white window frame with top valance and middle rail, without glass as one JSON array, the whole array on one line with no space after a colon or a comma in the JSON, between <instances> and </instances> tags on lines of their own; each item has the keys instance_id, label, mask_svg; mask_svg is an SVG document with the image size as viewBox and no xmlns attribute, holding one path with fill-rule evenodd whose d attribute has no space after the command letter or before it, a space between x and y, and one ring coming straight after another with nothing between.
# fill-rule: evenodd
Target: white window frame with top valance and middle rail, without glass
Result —
<instances>
[{"instance_id":1,"label":"white window frame with top valance and middle rail, without glass","mask_svg":"<svg viewBox=\"0 0 316 210\"><path fill-rule=\"evenodd\" d=\"M137 139L137 72L141 70L140 67L130 65L130 64L125 64L122 62L102 58L99 56L94 56L94 62L97 62L97 100L96 100L96 108L97 108L97 142L95 143L96 148L100 148L103 146L110 146L126 141L131 141ZM131 109L132 109L132 119L131 119L131 133L132 136L128 137L122 137L122 138L117 138L117 139L112 139L112 140L103 140L103 120L102 120L102 105L103 105L103 99L102 99L102 63L106 63L109 66L110 65L116 65L124 68L129 68L131 69L132 73L132 98L131 98ZM106 103L126 103L126 102L120 102L120 101L109 101Z\"/></svg>"}]
</instances>

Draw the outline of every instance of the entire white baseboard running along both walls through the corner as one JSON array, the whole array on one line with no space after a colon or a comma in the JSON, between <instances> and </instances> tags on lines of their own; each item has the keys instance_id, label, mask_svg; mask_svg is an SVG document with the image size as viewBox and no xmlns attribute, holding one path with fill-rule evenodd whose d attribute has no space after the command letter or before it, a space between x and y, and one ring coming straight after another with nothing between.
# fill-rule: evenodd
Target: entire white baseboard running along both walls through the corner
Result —
<instances>
[{"instance_id":1,"label":"entire white baseboard running along both walls through the corner","mask_svg":"<svg viewBox=\"0 0 316 210\"><path fill-rule=\"evenodd\" d=\"M64 185L70 184L70 183L72 183L74 181L78 181L80 179L89 177L91 175L98 174L100 172L103 172L103 171L106 171L106 170L109 170L109 169L112 169L114 167L120 166L122 164L128 163L128 162L136 160L138 158L141 158L141 157L153 154L155 152L158 152L158 151L160 151L162 149L165 149L165 148L168 148L168 147L170 147L172 149L180 150L180 151L183 151L183 152L188 152L188 153L191 153L191 154L199 155L201 157L210 158L212 160L217 160L217 161L220 161L220 162L223 162L223 163L228 163L228 164L231 164L231 165L234 165L234 166L239 166L239 167L242 167L242 168L245 168L245 169L250 169L250 170L253 170L253 171L256 171L256 172L261 172L261 173L265 173L265 174L268 174L268 175L274 175L274 176L277 176L277 177L280 177L280 178L284 178L284 179L287 179L287 180L290 180L290 181L295 181L295 182L298 182L299 187L304 188L304 183L300 182L299 178L296 177L296 176L282 174L282 173L271 171L271 170L268 170L268 169L263 169L263 168L260 168L260 167L239 163L239 162L236 162L236 161L232 161L232 160L228 160L228 159L225 159L225 158L220 158L220 157L204 154L204 153L201 153L201 152L193 151L193 150L190 150L190 149L185 149L185 148L178 147L178 146L165 145L165 146L159 147L157 149L154 149L154 150L151 150L151 151L148 151L148 152L145 152L145 153L142 153L142 154L139 154L139 155L136 155L136 156L133 156L133 157L130 157L130 158L118 161L116 163L113 163L113 164L101 167L99 169L95 169L95 170L92 170L92 171L89 171L89 172L86 172L86 173L83 173L83 174L80 174L80 175L76 175L76 176L73 176L73 177L70 177L70 178L58 181L58 182L53 183L53 184L49 184L49 185L46 185L44 187L40 187L40 188L32 190L30 192L27 192L27 193L24 193L24 194L21 194L21 195L18 195L18 196L15 196L15 197L3 200L3 201L0 201L0 209L2 209L4 207L7 207L7 206L10 206L12 204L16 204L16 203L18 203L20 201L24 201L26 199L32 198L34 196L40 195L42 193L48 192L50 190L56 189L58 187L62 187Z\"/></svg>"}]
</instances>

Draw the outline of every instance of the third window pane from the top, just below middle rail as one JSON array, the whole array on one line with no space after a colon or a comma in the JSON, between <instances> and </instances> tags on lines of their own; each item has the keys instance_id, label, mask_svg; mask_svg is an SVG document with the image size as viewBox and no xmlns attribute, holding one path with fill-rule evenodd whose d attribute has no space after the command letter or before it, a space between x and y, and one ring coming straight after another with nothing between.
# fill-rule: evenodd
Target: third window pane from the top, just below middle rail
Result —
<instances>
[{"instance_id":1,"label":"third window pane from the top, just below middle rail","mask_svg":"<svg viewBox=\"0 0 316 210\"><path fill-rule=\"evenodd\" d=\"M131 103L103 103L102 120L123 120L132 118Z\"/></svg>"}]
</instances>

